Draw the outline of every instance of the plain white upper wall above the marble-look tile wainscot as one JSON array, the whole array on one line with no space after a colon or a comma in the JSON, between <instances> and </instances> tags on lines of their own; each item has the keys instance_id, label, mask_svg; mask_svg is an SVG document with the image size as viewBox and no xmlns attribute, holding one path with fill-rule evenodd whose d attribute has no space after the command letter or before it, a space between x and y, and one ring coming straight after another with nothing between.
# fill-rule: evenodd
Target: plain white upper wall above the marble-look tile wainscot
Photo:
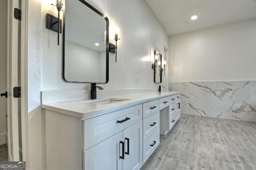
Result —
<instances>
[{"instance_id":1,"label":"plain white upper wall above the marble-look tile wainscot","mask_svg":"<svg viewBox=\"0 0 256 170\"><path fill-rule=\"evenodd\" d=\"M256 20L170 37L170 82L256 80Z\"/></svg>"}]
</instances>

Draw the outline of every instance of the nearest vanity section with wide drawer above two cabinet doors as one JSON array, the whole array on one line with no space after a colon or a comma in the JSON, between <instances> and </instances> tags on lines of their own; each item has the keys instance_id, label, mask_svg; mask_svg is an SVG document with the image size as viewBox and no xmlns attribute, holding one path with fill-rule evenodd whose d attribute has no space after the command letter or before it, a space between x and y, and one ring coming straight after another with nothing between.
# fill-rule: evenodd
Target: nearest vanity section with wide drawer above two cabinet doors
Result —
<instances>
[{"instance_id":1,"label":"nearest vanity section with wide drawer above two cabinet doors","mask_svg":"<svg viewBox=\"0 0 256 170\"><path fill-rule=\"evenodd\" d=\"M142 167L142 105L86 119L83 127L84 170L139 170Z\"/></svg>"}]
</instances>

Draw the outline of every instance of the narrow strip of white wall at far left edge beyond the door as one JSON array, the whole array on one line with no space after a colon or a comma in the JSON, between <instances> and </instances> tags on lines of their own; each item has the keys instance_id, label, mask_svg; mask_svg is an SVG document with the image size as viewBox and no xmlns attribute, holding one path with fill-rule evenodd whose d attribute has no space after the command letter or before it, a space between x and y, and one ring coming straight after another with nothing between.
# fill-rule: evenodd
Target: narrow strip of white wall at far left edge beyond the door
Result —
<instances>
[{"instance_id":1,"label":"narrow strip of white wall at far left edge beyond the door","mask_svg":"<svg viewBox=\"0 0 256 170\"><path fill-rule=\"evenodd\" d=\"M0 6L0 93L6 89L7 0ZM0 97L0 145L6 143L6 98Z\"/></svg>"}]
</instances>

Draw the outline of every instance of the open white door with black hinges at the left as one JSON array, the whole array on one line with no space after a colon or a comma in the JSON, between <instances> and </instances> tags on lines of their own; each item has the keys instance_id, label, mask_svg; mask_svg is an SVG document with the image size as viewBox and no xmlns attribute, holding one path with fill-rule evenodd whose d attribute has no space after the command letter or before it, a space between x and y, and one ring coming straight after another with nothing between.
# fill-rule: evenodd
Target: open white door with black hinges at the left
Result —
<instances>
[{"instance_id":1,"label":"open white door with black hinges at the left","mask_svg":"<svg viewBox=\"0 0 256 170\"><path fill-rule=\"evenodd\" d=\"M14 19L19 0L8 0L7 33L7 131L9 161L20 161L19 112L20 99L13 97L13 88L20 86L20 21Z\"/></svg>"}]
</instances>

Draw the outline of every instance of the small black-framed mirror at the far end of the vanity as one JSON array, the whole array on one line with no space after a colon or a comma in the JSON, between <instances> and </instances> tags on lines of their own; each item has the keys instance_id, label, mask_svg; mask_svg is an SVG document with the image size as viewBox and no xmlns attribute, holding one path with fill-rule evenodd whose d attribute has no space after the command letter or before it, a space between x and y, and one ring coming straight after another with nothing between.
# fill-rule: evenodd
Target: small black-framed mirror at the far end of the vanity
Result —
<instances>
[{"instance_id":1,"label":"small black-framed mirror at the far end of the vanity","mask_svg":"<svg viewBox=\"0 0 256 170\"><path fill-rule=\"evenodd\" d=\"M154 51L154 82L162 83L162 54Z\"/></svg>"}]
</instances>

